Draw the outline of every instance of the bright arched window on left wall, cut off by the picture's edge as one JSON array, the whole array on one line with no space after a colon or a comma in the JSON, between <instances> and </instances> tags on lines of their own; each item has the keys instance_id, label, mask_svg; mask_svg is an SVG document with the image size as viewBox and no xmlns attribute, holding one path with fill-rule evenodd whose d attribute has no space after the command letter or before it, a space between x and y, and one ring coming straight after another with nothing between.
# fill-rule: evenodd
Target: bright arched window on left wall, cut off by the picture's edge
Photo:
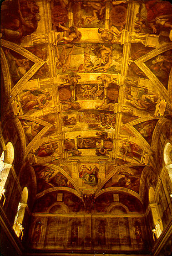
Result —
<instances>
[{"instance_id":1,"label":"bright arched window on left wall, cut off by the picture's edge","mask_svg":"<svg viewBox=\"0 0 172 256\"><path fill-rule=\"evenodd\" d=\"M11 142L8 142L5 146L5 150L0 156L0 200L3 200L3 205L5 203L5 182L8 178L10 168L14 160L14 147Z\"/></svg>"}]
</instances>

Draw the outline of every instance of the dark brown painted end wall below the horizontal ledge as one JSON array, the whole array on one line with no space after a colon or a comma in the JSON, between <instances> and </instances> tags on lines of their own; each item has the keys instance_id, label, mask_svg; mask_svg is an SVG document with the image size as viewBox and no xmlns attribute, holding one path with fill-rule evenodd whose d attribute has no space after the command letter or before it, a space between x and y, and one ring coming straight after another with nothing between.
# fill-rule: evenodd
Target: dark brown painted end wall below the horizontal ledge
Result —
<instances>
[{"instance_id":1,"label":"dark brown painted end wall below the horizontal ledge","mask_svg":"<svg viewBox=\"0 0 172 256\"><path fill-rule=\"evenodd\" d=\"M46 220L46 230L39 235L37 243L33 241L36 230L32 231L30 240L34 248L104 251L130 250L133 246L144 249L147 246L144 243L146 234L143 233L145 230L142 226L142 217L133 219L114 216L105 218L95 215L92 217L91 215L87 217L57 215L56 218L41 218L45 218L42 222ZM89 225L93 225L92 232ZM129 230L129 225L134 225L132 230ZM38 229L36 224L35 229ZM45 237L43 244L40 243L41 237Z\"/></svg>"}]
</instances>

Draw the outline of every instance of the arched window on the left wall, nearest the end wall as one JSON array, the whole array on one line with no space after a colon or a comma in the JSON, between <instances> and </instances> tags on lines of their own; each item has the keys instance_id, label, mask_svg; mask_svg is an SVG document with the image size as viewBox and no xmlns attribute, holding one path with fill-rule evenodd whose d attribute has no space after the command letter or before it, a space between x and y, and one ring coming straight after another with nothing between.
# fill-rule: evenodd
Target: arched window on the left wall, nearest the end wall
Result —
<instances>
[{"instance_id":1,"label":"arched window on the left wall, nearest the end wall","mask_svg":"<svg viewBox=\"0 0 172 256\"><path fill-rule=\"evenodd\" d=\"M28 199L28 189L25 187L23 188L21 194L21 200L18 205L17 213L15 215L15 221L13 225L13 229L15 230L15 234L22 239L23 236L23 227L22 222L25 215L25 208L27 206L27 199Z\"/></svg>"}]
</instances>

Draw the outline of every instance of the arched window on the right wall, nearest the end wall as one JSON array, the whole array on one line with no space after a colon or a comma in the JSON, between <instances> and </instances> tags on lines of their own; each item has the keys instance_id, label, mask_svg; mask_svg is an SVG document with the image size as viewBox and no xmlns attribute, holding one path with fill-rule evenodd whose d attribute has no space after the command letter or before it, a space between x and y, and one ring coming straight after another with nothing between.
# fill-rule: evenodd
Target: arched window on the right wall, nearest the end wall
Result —
<instances>
[{"instance_id":1,"label":"arched window on the right wall, nearest the end wall","mask_svg":"<svg viewBox=\"0 0 172 256\"><path fill-rule=\"evenodd\" d=\"M152 211L152 217L153 217L153 223L154 223L154 229L152 230L152 232L153 232L153 238L155 239L155 237L158 238L161 235L163 230L163 225L162 225L162 219L159 214L158 205L155 199L155 191L152 187L149 189L149 206Z\"/></svg>"}]
</instances>

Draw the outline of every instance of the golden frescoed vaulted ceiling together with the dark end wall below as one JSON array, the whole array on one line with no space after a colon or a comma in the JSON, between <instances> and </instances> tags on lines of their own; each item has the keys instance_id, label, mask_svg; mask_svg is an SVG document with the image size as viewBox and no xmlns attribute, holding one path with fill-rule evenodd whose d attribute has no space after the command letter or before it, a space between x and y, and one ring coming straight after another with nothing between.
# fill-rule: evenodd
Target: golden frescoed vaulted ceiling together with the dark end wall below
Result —
<instances>
[{"instance_id":1,"label":"golden frescoed vaulted ceiling together with the dark end wall below","mask_svg":"<svg viewBox=\"0 0 172 256\"><path fill-rule=\"evenodd\" d=\"M5 127L36 180L31 247L147 248L145 194L171 136L171 13L168 1L2 3Z\"/></svg>"}]
</instances>

